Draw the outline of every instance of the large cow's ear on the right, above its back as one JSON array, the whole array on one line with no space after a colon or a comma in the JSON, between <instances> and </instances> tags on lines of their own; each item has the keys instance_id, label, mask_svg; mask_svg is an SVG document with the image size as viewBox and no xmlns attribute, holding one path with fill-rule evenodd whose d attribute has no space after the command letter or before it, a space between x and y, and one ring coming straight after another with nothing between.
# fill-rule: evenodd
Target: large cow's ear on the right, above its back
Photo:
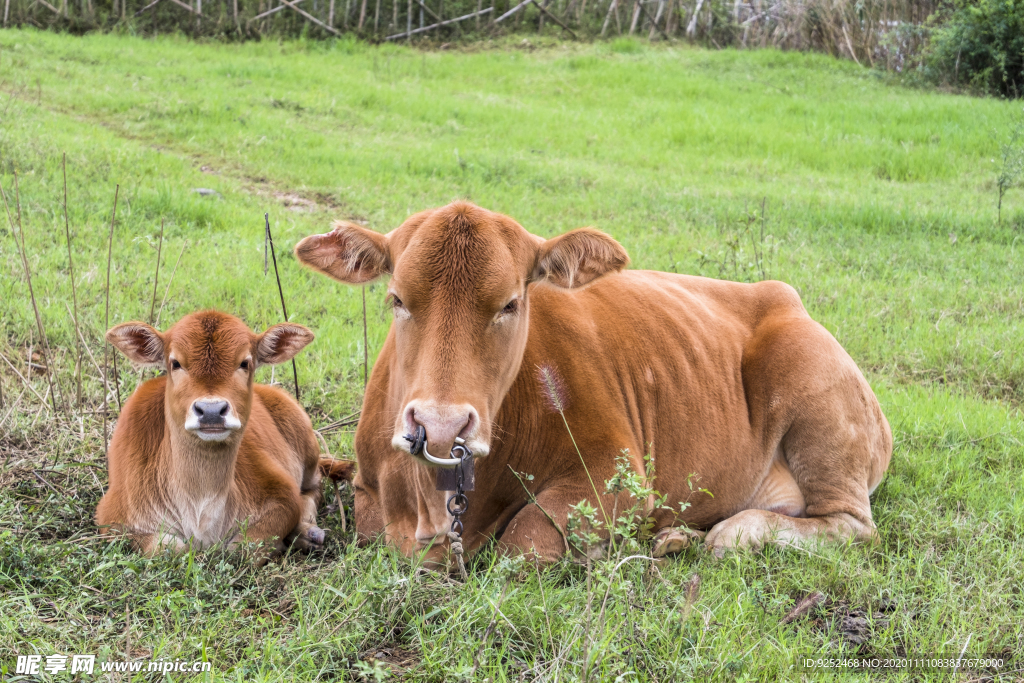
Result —
<instances>
[{"instance_id":1,"label":"large cow's ear on the right, above its back","mask_svg":"<svg viewBox=\"0 0 1024 683\"><path fill-rule=\"evenodd\" d=\"M617 272L629 262L629 254L611 237L580 227L541 244L532 280L572 289Z\"/></svg>"}]
</instances>

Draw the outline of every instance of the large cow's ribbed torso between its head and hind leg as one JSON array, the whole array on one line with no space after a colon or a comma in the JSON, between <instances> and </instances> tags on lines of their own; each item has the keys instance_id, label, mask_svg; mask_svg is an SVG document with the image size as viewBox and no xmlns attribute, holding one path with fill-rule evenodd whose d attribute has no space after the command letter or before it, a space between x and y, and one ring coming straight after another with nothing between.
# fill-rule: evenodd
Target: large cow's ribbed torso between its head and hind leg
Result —
<instances>
[{"instance_id":1,"label":"large cow's ribbed torso between its head and hind leg","mask_svg":"<svg viewBox=\"0 0 1024 683\"><path fill-rule=\"evenodd\" d=\"M654 456L658 490L689 499L688 522L710 525L743 506L777 444L768 433L777 425L759 421L751 402L765 378L744 375L744 358L766 325L820 328L792 287L626 271L578 291L541 285L530 297L529 341L499 416L508 434L499 447L513 469L559 476L543 453L564 450L556 442L565 435L546 395L557 389L539 377L546 369L595 481L610 478L613 459L586 454L629 449L639 471L643 456ZM550 434L542 439L550 445L517 447L530 440L517 432ZM691 496L690 483L714 498Z\"/></svg>"}]
</instances>

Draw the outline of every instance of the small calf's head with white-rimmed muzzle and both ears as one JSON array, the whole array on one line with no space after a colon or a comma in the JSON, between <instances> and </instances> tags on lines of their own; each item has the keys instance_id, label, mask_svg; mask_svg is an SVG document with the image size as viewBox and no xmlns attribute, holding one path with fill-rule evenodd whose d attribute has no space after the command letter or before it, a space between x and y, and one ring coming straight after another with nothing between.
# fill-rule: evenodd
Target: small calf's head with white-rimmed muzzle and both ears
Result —
<instances>
[{"instance_id":1,"label":"small calf's head with white-rimmed muzzle and both ears","mask_svg":"<svg viewBox=\"0 0 1024 683\"><path fill-rule=\"evenodd\" d=\"M166 371L171 429L210 447L241 440L256 368L291 359L312 339L309 330L291 323L254 334L215 310L186 315L163 333L145 323L124 323L106 333L106 341L135 365Z\"/></svg>"}]
</instances>

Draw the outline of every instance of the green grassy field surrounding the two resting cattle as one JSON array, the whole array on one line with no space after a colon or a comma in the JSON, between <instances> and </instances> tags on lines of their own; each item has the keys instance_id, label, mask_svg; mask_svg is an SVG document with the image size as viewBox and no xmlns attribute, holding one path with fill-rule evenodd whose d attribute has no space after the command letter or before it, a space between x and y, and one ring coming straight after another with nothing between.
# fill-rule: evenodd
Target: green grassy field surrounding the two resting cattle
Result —
<instances>
[{"instance_id":1,"label":"green grassy field surrounding the two resting cattle","mask_svg":"<svg viewBox=\"0 0 1024 683\"><path fill-rule=\"evenodd\" d=\"M16 680L14 653L59 652L208 659L208 680L232 681L860 680L796 663L966 648L1016 657L1001 680L1021 680L1024 196L1009 193L998 223L992 162L1015 108L775 51L0 31L0 183L16 212L17 172L59 386L54 412L28 365L39 335L0 216L0 671ZM485 552L463 586L356 549L334 514L324 553L265 569L217 552L140 558L91 523L115 185L111 325L148 316L162 222L162 327L201 306L280 322L269 213L291 318L317 333L298 365L314 425L362 392L360 292L291 255L335 218L387 230L466 198L546 237L595 225L634 267L788 282L892 423L872 500L882 543L546 572ZM389 313L383 285L366 294L372 362ZM123 400L138 373L119 371ZM328 441L351 454L349 433Z\"/></svg>"}]
</instances>

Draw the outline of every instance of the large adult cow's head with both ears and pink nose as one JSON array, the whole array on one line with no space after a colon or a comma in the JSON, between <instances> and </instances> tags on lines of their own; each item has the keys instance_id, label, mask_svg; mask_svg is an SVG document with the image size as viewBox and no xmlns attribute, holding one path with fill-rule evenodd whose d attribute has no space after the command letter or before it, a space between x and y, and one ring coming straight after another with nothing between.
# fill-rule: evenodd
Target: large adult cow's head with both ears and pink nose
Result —
<instances>
[{"instance_id":1,"label":"large adult cow's head with both ears and pink nose","mask_svg":"<svg viewBox=\"0 0 1024 683\"><path fill-rule=\"evenodd\" d=\"M388 296L399 392L391 444L426 428L431 455L462 437L475 456L519 371L529 321L528 286L585 286L629 261L607 234L580 228L544 240L507 216L457 202L409 218L388 234L336 223L295 248L298 259L339 282L390 273Z\"/></svg>"}]
</instances>

